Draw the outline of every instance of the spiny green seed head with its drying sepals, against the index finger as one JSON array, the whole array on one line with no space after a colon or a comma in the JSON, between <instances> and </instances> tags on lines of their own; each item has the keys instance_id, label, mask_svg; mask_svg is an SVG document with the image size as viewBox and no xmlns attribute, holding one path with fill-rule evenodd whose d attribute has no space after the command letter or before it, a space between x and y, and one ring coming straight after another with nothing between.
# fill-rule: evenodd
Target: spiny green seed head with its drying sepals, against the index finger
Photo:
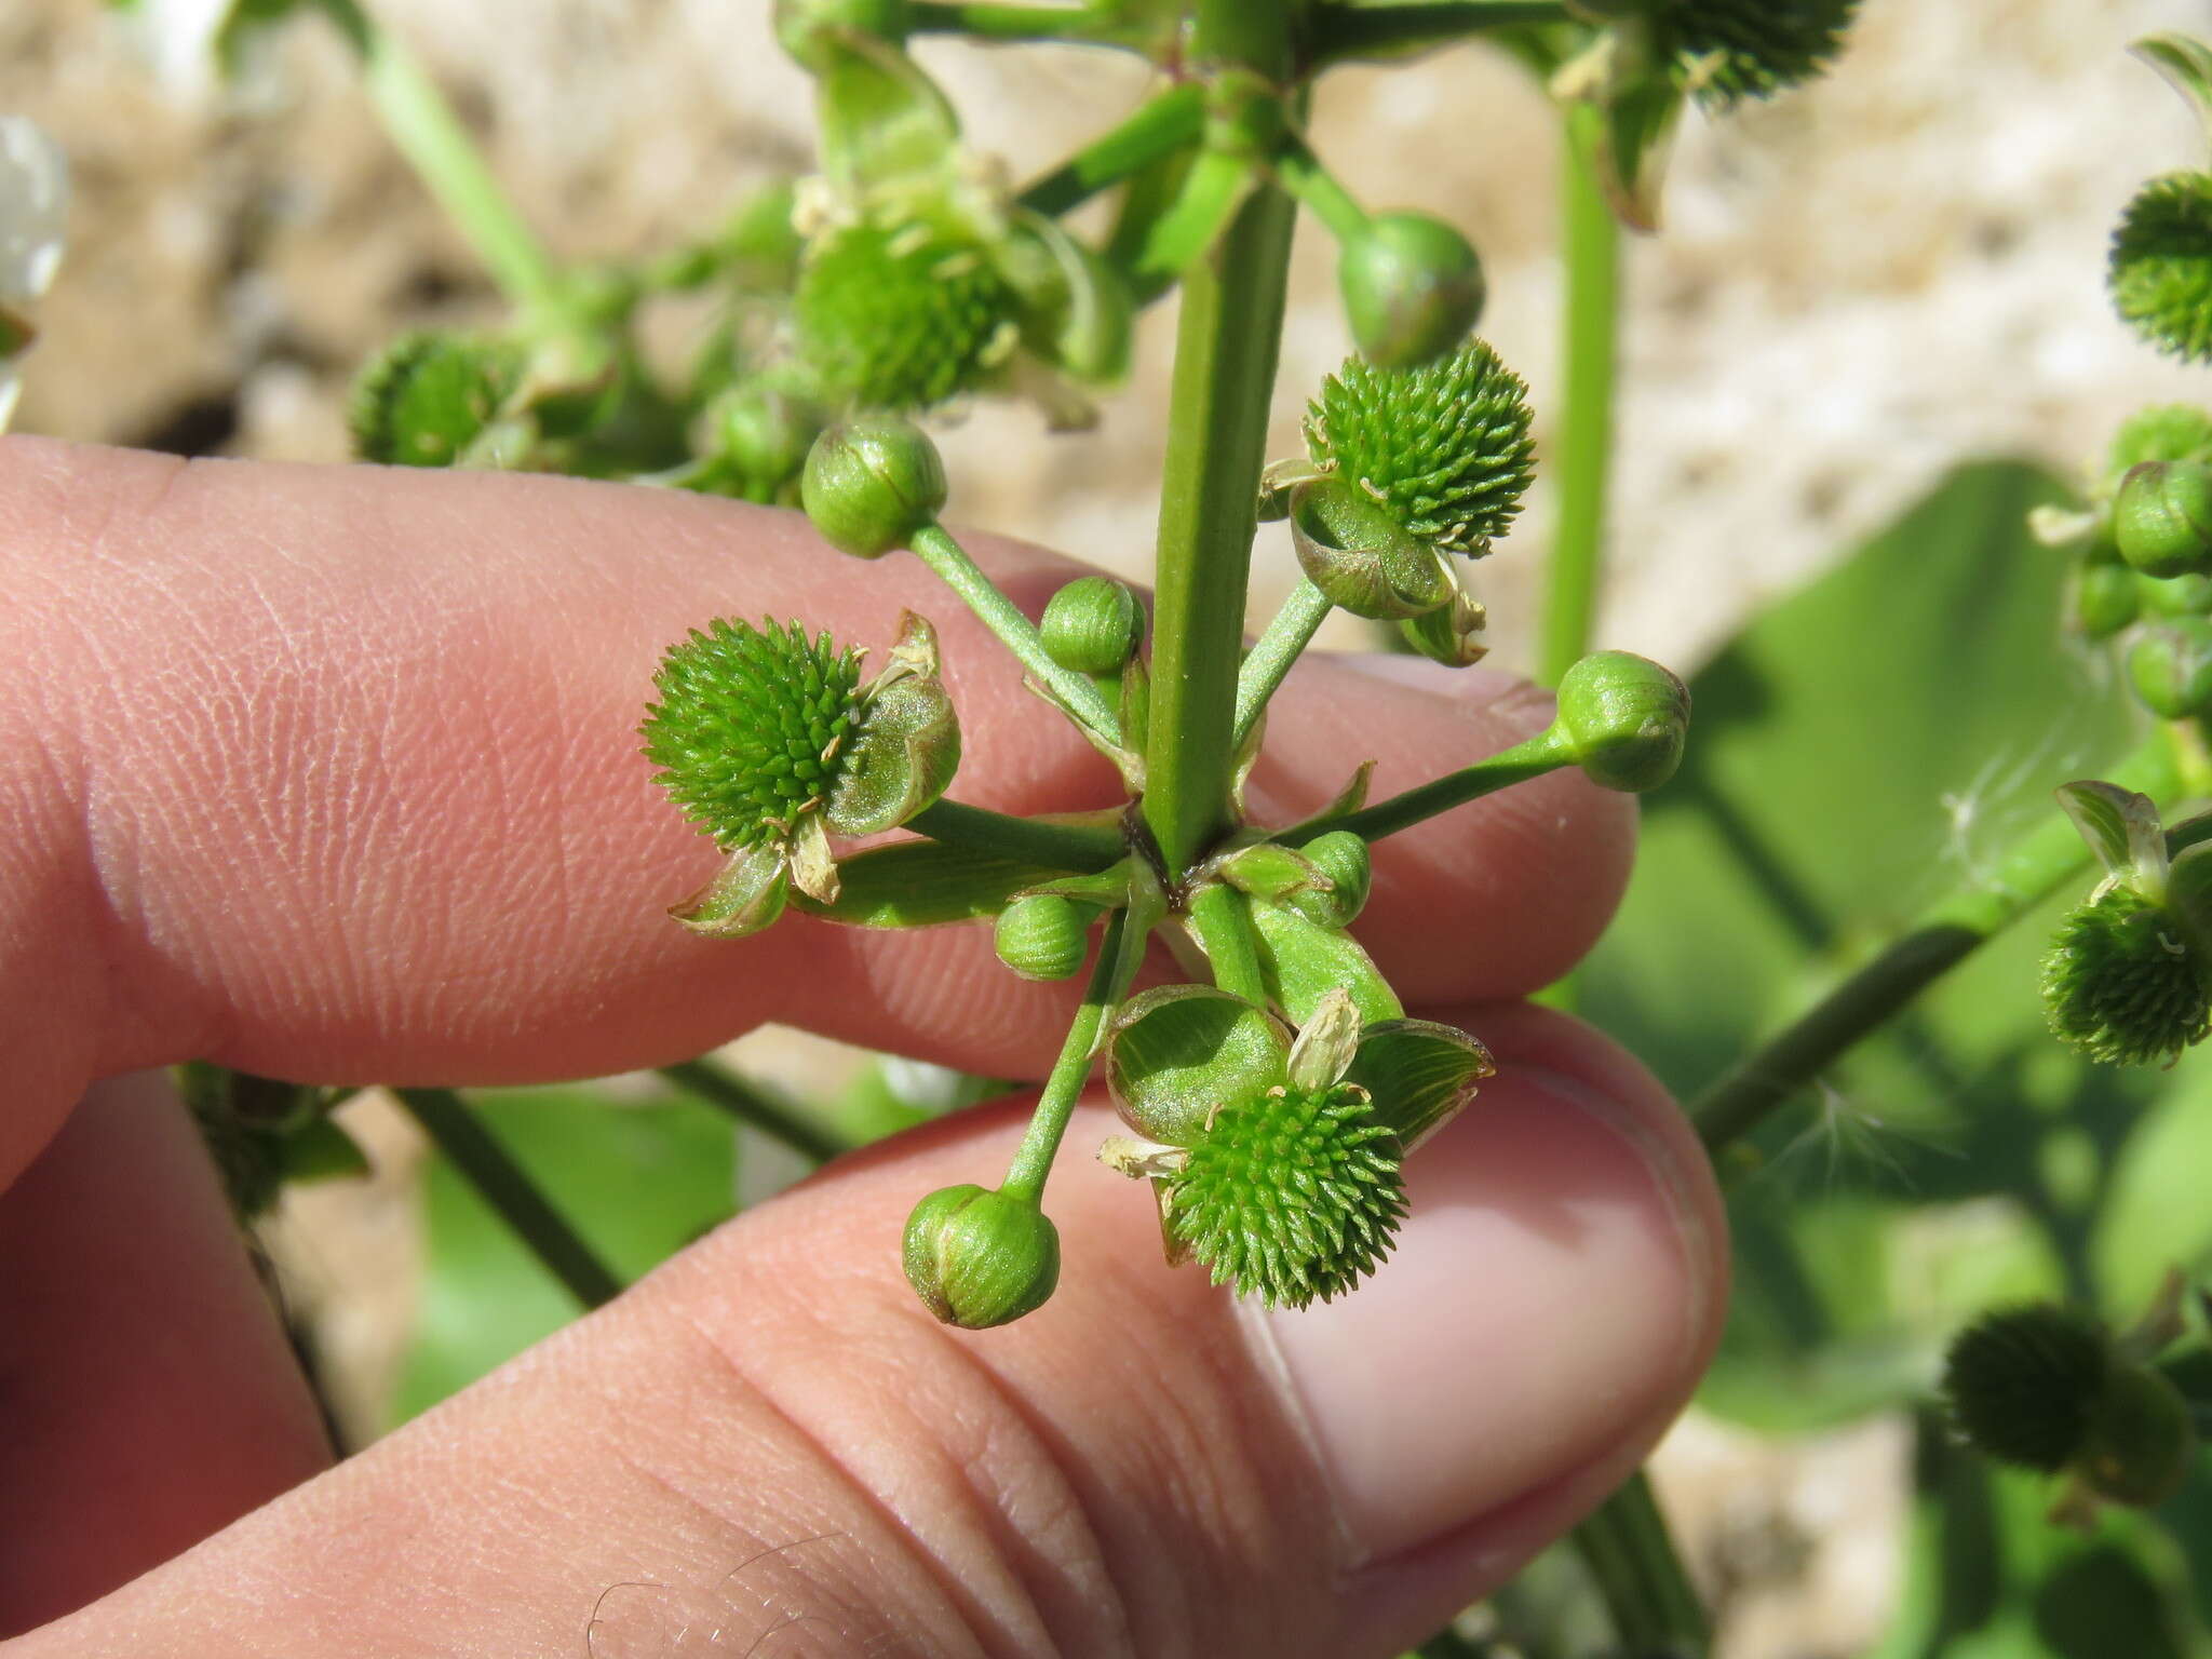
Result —
<instances>
[{"instance_id":1,"label":"spiny green seed head with its drying sepals, against the index finger","mask_svg":"<svg viewBox=\"0 0 2212 1659\"><path fill-rule=\"evenodd\" d=\"M838 896L830 834L894 830L933 803L960 763L960 723L938 681L936 630L905 619L891 661L860 684L860 653L799 624L717 619L672 646L641 737L659 785L730 854L672 916L741 938L787 889Z\"/></svg>"}]
</instances>

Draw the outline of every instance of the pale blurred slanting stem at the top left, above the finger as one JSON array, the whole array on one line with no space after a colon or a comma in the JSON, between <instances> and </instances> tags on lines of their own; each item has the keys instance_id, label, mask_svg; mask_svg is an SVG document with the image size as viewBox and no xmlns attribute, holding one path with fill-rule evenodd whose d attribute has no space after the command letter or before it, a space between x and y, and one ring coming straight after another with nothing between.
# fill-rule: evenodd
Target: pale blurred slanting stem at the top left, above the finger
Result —
<instances>
[{"instance_id":1,"label":"pale blurred slanting stem at the top left, above the finger","mask_svg":"<svg viewBox=\"0 0 2212 1659\"><path fill-rule=\"evenodd\" d=\"M363 86L392 144L476 248L491 281L515 307L535 316L557 314L564 283L553 259L500 190L438 84L361 0L319 4L361 53Z\"/></svg>"}]
</instances>

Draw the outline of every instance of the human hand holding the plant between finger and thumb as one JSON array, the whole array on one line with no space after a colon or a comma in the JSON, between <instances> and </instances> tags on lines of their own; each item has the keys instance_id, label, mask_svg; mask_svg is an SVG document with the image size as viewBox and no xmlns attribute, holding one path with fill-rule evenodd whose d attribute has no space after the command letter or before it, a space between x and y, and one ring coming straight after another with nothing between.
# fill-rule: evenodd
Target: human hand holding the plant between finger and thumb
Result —
<instances>
[{"instance_id":1,"label":"human hand holding the plant between finger and thumb","mask_svg":"<svg viewBox=\"0 0 2212 1659\"><path fill-rule=\"evenodd\" d=\"M1024 602L1064 580L989 555ZM1568 772L1376 854L1363 942L1500 1075L1409 1164L1411 1219L1354 1296L1241 1307L1068 1157L1057 1296L936 1325L898 1234L916 1194L1004 1164L1020 1106L980 1108L838 1161L323 1473L181 1113L93 1079L201 1055L526 1082L763 1020L1000 1075L1051 1060L1071 993L1009 975L989 929L723 945L661 916L714 854L635 726L659 650L710 615L880 644L922 611L962 799L1115 799L920 568L854 571L792 515L675 493L0 442L0 1628L91 1601L11 1659L619 1659L714 1630L763 1655L1389 1655L1674 1416L1725 1281L1703 1157L1630 1060L1513 1002L1626 876L1632 807ZM1314 661L1252 801L1296 816L1367 757L1389 792L1542 723L1482 670Z\"/></svg>"}]
</instances>

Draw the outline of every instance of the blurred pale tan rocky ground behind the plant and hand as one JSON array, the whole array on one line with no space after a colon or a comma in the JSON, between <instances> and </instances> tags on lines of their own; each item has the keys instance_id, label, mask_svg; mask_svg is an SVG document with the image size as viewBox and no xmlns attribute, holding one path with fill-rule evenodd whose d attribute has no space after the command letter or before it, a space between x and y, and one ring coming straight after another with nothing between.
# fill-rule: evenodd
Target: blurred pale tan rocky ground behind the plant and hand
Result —
<instances>
[{"instance_id":1,"label":"blurred pale tan rocky ground behind the plant and hand","mask_svg":"<svg viewBox=\"0 0 2212 1659\"><path fill-rule=\"evenodd\" d=\"M710 226L807 166L805 82L765 0L380 0L487 135L515 199L568 257L624 257ZM2212 31L2208 0L1865 0L1851 53L1803 93L1692 119L1668 228L1630 259L1615 564L1599 641L1683 670L1823 568L1944 467L2073 465L2146 400L2203 398L2112 319L2110 226L2152 173L2201 164L2183 104L2128 40ZM1135 64L931 42L978 146L1015 173L1102 128ZM341 460L352 367L409 323L495 316L467 250L378 137L345 51L288 29L248 88L179 97L97 0L0 9L0 111L71 153L69 259L42 312L18 425L104 442ZM1332 77L1316 144L1374 206L1462 223L1491 274L1484 332L1551 407L1559 303L1544 102L1475 49ZM1301 237L1276 453L1345 349L1329 252ZM1152 540L1170 319L1084 440L1031 411L947 431L956 511L1128 573ZM670 341L679 347L681 341ZM1540 425L1540 438L1544 427ZM1524 664L1548 502L1482 568L1498 659ZM1294 573L1270 535L1254 619ZM1358 644L1358 626L1334 635ZM849 1064L768 1035L787 1079ZM389 1164L409 1148L356 1119ZM354 1422L374 1418L407 1318L409 1210L314 1194L276 1228ZM1692 1420L1661 1480L1734 1655L1845 1655L1896 1593L1905 1436L1869 1425L1774 1449Z\"/></svg>"}]
</instances>

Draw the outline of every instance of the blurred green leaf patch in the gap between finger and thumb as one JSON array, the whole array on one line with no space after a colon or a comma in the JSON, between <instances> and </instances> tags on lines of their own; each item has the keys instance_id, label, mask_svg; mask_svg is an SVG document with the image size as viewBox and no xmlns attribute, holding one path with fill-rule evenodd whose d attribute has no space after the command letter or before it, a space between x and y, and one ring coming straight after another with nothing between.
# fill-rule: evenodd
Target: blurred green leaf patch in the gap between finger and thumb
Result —
<instances>
[{"instance_id":1,"label":"blurred green leaf patch in the gap between finger and thumb","mask_svg":"<svg viewBox=\"0 0 2212 1659\"><path fill-rule=\"evenodd\" d=\"M471 1106L622 1279L637 1279L734 1212L737 1141L699 1102L617 1106L591 1084L471 1091ZM392 1422L405 1422L575 1318L575 1301L445 1159L422 1179L414 1343Z\"/></svg>"}]
</instances>

